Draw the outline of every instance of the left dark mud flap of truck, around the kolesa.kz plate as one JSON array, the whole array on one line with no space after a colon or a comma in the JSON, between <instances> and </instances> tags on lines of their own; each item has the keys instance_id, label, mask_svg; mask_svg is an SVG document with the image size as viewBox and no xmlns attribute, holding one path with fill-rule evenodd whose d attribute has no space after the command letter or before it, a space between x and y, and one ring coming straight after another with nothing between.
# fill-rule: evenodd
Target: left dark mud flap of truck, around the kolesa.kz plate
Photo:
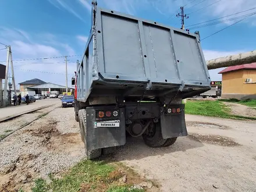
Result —
<instances>
[{"instance_id":1,"label":"left dark mud flap of truck, around the kolesa.kz plate","mask_svg":"<svg viewBox=\"0 0 256 192\"><path fill-rule=\"evenodd\" d=\"M115 106L88 107L86 108L87 123L87 150L95 150L98 148L114 147L124 145L126 143L125 131L125 109L119 108L119 127L97 127L95 124L96 110L116 109Z\"/></svg>"}]
</instances>

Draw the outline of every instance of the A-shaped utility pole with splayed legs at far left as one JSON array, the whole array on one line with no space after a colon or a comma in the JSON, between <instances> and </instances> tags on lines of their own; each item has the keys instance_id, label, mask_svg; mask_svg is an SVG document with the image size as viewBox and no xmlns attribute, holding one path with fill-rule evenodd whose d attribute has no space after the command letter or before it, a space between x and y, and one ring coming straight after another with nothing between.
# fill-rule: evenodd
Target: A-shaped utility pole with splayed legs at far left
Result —
<instances>
[{"instance_id":1,"label":"A-shaped utility pole with splayed legs at far left","mask_svg":"<svg viewBox=\"0 0 256 192\"><path fill-rule=\"evenodd\" d=\"M15 84L15 77L14 77L14 70L13 70L13 62L12 62L12 50L10 45L7 46L7 56L6 56L6 69L5 69L5 87L3 88L3 106L6 106L6 97L7 97L7 85L8 85L8 73L9 73L9 63L12 68L12 83L15 94L16 92L16 84Z\"/></svg>"}]
</instances>

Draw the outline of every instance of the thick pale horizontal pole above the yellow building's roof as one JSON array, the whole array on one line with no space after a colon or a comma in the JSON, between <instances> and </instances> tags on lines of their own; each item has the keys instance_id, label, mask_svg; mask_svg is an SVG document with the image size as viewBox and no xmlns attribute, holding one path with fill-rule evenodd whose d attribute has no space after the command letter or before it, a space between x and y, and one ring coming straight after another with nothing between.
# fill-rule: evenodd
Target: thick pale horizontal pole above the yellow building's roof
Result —
<instances>
[{"instance_id":1,"label":"thick pale horizontal pole above the yellow building's roof","mask_svg":"<svg viewBox=\"0 0 256 192\"><path fill-rule=\"evenodd\" d=\"M245 52L243 54L224 56L222 58L211 59L207 61L208 69L218 69L235 65L243 65L256 62L256 50Z\"/></svg>"}]
</instances>

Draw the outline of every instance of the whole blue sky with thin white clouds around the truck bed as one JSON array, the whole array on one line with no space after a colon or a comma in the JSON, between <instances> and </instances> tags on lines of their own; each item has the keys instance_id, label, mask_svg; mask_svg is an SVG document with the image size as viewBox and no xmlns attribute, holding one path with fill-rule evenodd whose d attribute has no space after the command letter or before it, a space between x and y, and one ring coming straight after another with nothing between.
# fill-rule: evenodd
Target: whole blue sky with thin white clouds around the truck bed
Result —
<instances>
[{"instance_id":1,"label":"whole blue sky with thin white clouds around the truck bed","mask_svg":"<svg viewBox=\"0 0 256 192\"><path fill-rule=\"evenodd\" d=\"M98 6L103 8L179 28L180 18L177 18L176 14L179 7L184 5L184 12L191 13L189 19L185 20L185 26L256 8L255 0L98 0ZM223 19L253 12L256 12L256 9ZM256 45L255 18L248 17L243 22L202 41L205 59L253 51ZM199 30L201 38L204 38L237 21L239 19L190 31ZM64 58L16 60L81 55L90 28L89 0L1 1L0 42L12 47L16 84L38 78L65 85ZM2 48L5 47L1 45L0 49ZM69 57L69 79L76 69L76 59L81 59L81 56ZM5 49L0 51L0 61L5 64ZM221 75L217 74L219 70L221 69L210 71L212 80L221 80Z\"/></svg>"}]
</instances>

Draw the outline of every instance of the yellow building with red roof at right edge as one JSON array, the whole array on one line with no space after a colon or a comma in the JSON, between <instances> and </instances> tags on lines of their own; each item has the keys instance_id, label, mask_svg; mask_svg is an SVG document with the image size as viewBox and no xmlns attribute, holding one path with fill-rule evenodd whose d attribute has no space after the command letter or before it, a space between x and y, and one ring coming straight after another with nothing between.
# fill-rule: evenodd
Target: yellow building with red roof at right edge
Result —
<instances>
[{"instance_id":1,"label":"yellow building with red roof at right edge","mask_svg":"<svg viewBox=\"0 0 256 192\"><path fill-rule=\"evenodd\" d=\"M256 63L231 66L222 74L222 98L256 99Z\"/></svg>"}]
</instances>

